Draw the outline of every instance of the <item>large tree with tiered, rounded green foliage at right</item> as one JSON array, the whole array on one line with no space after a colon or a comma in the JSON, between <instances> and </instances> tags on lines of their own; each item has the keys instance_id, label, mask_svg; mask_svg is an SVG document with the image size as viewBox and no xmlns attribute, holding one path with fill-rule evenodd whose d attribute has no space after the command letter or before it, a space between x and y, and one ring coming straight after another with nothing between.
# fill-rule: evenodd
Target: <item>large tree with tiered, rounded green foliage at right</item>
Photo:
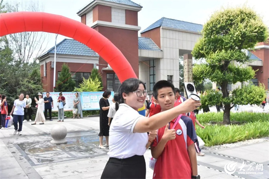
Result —
<instances>
[{"instance_id":1,"label":"large tree with tiered, rounded green foliage at right","mask_svg":"<svg viewBox=\"0 0 269 179\"><path fill-rule=\"evenodd\" d=\"M244 50L253 49L258 42L267 39L267 26L247 7L222 9L204 24L202 38L196 43L192 54L196 59L205 59L206 63L196 65L193 76L197 82L209 79L220 84L224 124L230 124L230 103L233 103L229 98L227 84L248 81L255 75L251 67L243 66L249 62L249 56Z\"/></svg>"}]
</instances>

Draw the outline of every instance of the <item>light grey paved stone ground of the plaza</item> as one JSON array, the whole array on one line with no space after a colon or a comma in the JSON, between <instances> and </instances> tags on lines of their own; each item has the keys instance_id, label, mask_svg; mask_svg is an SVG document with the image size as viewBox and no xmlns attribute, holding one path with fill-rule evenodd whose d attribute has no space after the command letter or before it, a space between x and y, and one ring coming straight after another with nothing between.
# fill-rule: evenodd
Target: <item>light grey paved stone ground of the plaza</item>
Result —
<instances>
[{"instance_id":1,"label":"light grey paved stone ground of the plaza","mask_svg":"<svg viewBox=\"0 0 269 179\"><path fill-rule=\"evenodd\" d=\"M242 107L243 110L248 108L260 110L259 107ZM269 112L267 108L265 112ZM214 109L210 108L211 112ZM100 178L109 149L98 148L99 117L56 121L45 121L45 125L23 122L21 136L13 135L13 127L0 130L0 179ZM67 144L52 145L50 129L59 124L67 128ZM269 178L268 141L203 152L206 154L204 157L197 156L202 178ZM144 156L148 165L150 150ZM234 173L232 166L236 166ZM225 173L224 168L232 174ZM151 179L152 176L153 171L147 168L146 178Z\"/></svg>"}]
</instances>

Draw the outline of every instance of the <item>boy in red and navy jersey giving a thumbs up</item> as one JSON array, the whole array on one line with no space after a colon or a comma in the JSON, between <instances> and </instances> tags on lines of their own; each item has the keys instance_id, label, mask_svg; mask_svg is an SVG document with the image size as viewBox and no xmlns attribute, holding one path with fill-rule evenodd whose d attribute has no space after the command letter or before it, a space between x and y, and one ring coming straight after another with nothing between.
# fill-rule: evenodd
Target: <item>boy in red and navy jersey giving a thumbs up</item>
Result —
<instances>
[{"instance_id":1,"label":"boy in red and navy jersey giving a thumbs up","mask_svg":"<svg viewBox=\"0 0 269 179\"><path fill-rule=\"evenodd\" d=\"M153 88L154 97L167 111L174 107L175 87L166 80L158 81ZM151 145L152 157L157 158L153 179L199 179L194 143L197 141L192 120L181 116L174 129L176 118L157 131Z\"/></svg>"}]
</instances>

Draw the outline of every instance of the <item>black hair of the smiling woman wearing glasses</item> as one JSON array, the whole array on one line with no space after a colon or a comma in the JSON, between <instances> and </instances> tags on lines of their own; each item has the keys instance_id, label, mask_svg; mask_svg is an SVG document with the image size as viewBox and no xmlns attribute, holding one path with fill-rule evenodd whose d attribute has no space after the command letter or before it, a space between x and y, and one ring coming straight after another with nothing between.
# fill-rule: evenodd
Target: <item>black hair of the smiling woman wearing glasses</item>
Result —
<instances>
[{"instance_id":1,"label":"black hair of the smiling woman wearing glasses","mask_svg":"<svg viewBox=\"0 0 269 179\"><path fill-rule=\"evenodd\" d=\"M124 99L122 97L122 93L128 94L129 92L134 92L135 90L138 89L139 84L142 84L144 86L144 89L146 90L146 86L144 82L142 82L139 79L136 78L129 78L125 80L119 87L119 104L124 103Z\"/></svg>"}]
</instances>

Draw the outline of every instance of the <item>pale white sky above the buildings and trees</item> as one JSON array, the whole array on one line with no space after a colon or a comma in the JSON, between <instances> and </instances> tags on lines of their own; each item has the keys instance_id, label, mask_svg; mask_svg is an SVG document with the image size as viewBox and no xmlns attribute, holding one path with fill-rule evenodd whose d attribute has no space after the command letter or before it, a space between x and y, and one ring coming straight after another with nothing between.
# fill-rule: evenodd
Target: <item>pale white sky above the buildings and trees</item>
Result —
<instances>
[{"instance_id":1,"label":"pale white sky above the buildings and trees","mask_svg":"<svg viewBox=\"0 0 269 179\"><path fill-rule=\"evenodd\" d=\"M80 21L76 14L92 0L4 0L4 2L31 3L38 2L44 12L58 14ZM259 14L269 27L269 0L132 0L143 6L138 12L138 26L144 30L162 17L180 21L204 24L210 16L222 7L242 7L247 5ZM139 31L139 32L140 32ZM59 35L57 43L67 37ZM50 35L47 49L53 47L55 35Z\"/></svg>"}]
</instances>

